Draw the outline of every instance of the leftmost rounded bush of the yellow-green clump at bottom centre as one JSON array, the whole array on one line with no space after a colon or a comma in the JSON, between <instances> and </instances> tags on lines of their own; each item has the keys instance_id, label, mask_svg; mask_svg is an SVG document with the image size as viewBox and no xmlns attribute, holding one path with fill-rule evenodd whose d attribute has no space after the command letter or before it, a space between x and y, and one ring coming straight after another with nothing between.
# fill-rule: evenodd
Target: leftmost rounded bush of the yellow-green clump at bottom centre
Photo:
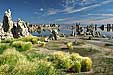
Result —
<instances>
[{"instance_id":1,"label":"leftmost rounded bush of the yellow-green clump at bottom centre","mask_svg":"<svg viewBox=\"0 0 113 75\"><path fill-rule=\"evenodd\" d=\"M49 60L52 61L55 67L59 69L69 69L71 67L72 61L70 60L68 56L69 56L68 53L66 54L62 51L58 51L58 52L53 53L50 56Z\"/></svg>"}]
</instances>

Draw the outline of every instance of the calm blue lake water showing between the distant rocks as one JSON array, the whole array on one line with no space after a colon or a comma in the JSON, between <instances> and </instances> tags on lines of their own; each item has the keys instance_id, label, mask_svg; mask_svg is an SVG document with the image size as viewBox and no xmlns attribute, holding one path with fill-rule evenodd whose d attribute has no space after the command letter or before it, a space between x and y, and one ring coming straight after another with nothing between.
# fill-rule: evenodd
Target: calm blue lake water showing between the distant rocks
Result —
<instances>
[{"instance_id":1,"label":"calm blue lake water showing between the distant rocks","mask_svg":"<svg viewBox=\"0 0 113 75\"><path fill-rule=\"evenodd\" d=\"M85 26L85 25L83 25ZM99 27L99 26L98 26ZM61 25L59 29L59 33L63 33L65 35L70 35L72 33L72 30L70 29L71 25ZM109 32L107 31L107 28L105 28L104 31L102 31L100 28L97 28L97 31L101 32L102 35L106 36L112 36L113 37L113 30L111 29ZM32 35L34 36L49 36L50 32L48 30L42 30L40 33L39 32L33 32Z\"/></svg>"}]
</instances>

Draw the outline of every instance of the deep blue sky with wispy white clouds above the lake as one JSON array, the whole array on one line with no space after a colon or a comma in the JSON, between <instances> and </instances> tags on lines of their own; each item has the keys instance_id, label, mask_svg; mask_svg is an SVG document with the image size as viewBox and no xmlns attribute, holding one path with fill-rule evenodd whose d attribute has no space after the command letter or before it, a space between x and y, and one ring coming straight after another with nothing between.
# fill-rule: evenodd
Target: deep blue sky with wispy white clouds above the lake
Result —
<instances>
[{"instance_id":1,"label":"deep blue sky with wispy white clouds above the lake","mask_svg":"<svg viewBox=\"0 0 113 75\"><path fill-rule=\"evenodd\" d=\"M113 0L0 0L1 22L7 9L34 24L113 23Z\"/></svg>"}]
</instances>

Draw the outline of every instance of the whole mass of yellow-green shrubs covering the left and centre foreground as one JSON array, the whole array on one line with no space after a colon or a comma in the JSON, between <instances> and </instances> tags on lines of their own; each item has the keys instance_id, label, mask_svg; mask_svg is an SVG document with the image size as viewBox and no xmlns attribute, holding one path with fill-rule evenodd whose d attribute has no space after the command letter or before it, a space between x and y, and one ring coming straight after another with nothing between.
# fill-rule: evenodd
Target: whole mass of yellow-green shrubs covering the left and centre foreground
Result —
<instances>
[{"instance_id":1,"label":"whole mass of yellow-green shrubs covering the left and centre foreground","mask_svg":"<svg viewBox=\"0 0 113 75\"><path fill-rule=\"evenodd\" d=\"M65 75L92 69L92 60L78 53L34 51L34 44L45 46L37 37L2 40L0 44L0 75Z\"/></svg>"}]
</instances>

